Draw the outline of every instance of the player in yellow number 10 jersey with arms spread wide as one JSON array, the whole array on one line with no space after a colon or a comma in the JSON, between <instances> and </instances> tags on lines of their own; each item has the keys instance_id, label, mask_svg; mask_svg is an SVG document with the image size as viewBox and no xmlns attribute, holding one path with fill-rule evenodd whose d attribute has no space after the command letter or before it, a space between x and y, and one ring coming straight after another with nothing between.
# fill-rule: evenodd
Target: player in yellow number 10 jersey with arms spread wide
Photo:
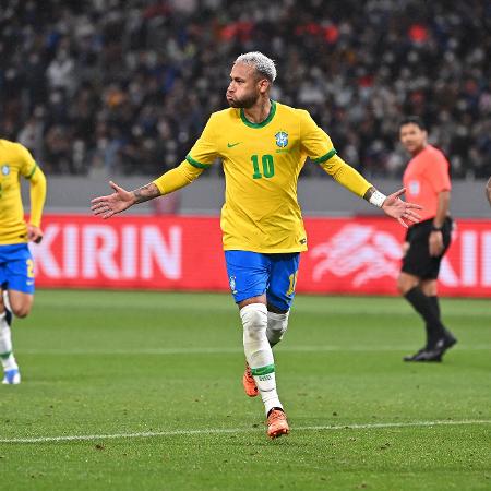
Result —
<instances>
[{"instance_id":1,"label":"player in yellow number 10 jersey with arms spread wide","mask_svg":"<svg viewBox=\"0 0 491 491\"><path fill-rule=\"evenodd\" d=\"M270 99L276 68L260 52L235 61L227 88L229 109L211 116L185 160L149 184L92 201L95 215L109 218L130 206L168 194L196 179L219 157L226 195L221 230L230 289L240 309L247 359L243 385L261 394L267 434L289 432L276 391L272 347L285 334L295 296L300 252L307 237L297 201L297 181L307 157L337 182L381 207L407 227L418 205L403 202L404 189L383 195L336 154L310 115Z\"/></svg>"}]
</instances>

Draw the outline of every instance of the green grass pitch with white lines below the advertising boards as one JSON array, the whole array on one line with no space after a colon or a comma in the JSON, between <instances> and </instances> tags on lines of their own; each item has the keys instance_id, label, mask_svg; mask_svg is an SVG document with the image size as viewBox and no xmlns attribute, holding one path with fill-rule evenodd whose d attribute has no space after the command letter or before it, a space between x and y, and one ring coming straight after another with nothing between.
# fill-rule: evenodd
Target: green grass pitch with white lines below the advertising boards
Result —
<instances>
[{"instance_id":1,"label":"green grass pitch with white lines below the advertising boards","mask_svg":"<svg viewBox=\"0 0 491 491\"><path fill-rule=\"evenodd\" d=\"M23 383L0 386L2 488L490 490L491 304L442 310L458 345L414 364L402 299L299 295L275 349L291 433L270 441L230 296L40 290Z\"/></svg>"}]
</instances>

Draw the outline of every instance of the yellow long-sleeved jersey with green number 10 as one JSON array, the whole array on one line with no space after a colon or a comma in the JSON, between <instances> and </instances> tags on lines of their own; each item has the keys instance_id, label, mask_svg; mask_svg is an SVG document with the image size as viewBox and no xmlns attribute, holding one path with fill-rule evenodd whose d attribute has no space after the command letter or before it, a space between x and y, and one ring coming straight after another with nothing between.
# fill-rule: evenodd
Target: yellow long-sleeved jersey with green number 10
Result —
<instances>
[{"instance_id":1,"label":"yellow long-sleeved jersey with green number 10","mask_svg":"<svg viewBox=\"0 0 491 491\"><path fill-rule=\"evenodd\" d=\"M273 100L261 123L250 122L243 109L213 113L187 161L154 182L161 193L171 192L220 157L226 182L224 249L300 252L307 250L307 237L297 182L308 156L360 196L371 185L336 155L309 112Z\"/></svg>"}]
</instances>

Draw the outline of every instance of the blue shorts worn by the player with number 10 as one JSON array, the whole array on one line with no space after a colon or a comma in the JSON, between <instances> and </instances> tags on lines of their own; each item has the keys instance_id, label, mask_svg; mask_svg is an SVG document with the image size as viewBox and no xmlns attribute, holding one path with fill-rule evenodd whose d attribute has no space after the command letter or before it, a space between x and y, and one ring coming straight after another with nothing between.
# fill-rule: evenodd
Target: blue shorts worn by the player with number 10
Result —
<instances>
[{"instance_id":1,"label":"blue shorts worn by the player with number 10","mask_svg":"<svg viewBox=\"0 0 491 491\"><path fill-rule=\"evenodd\" d=\"M237 303L266 292L267 302L289 310L295 297L300 253L262 254L225 251L228 280Z\"/></svg>"}]
</instances>

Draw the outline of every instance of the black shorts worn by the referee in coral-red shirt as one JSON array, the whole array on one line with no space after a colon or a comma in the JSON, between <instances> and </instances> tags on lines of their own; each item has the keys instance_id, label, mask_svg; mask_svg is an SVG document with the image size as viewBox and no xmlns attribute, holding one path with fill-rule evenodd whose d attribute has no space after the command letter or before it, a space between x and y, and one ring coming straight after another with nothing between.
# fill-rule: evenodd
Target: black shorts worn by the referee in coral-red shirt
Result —
<instances>
[{"instance_id":1,"label":"black shorts worn by the referee in coral-red shirt","mask_svg":"<svg viewBox=\"0 0 491 491\"><path fill-rule=\"evenodd\" d=\"M409 228L406 233L406 242L409 249L403 258L402 271L421 279L436 279L440 272L440 263L452 240L452 218L445 218L442 227L443 252L438 258L430 255L429 236L433 226L433 218L421 221Z\"/></svg>"}]
</instances>

